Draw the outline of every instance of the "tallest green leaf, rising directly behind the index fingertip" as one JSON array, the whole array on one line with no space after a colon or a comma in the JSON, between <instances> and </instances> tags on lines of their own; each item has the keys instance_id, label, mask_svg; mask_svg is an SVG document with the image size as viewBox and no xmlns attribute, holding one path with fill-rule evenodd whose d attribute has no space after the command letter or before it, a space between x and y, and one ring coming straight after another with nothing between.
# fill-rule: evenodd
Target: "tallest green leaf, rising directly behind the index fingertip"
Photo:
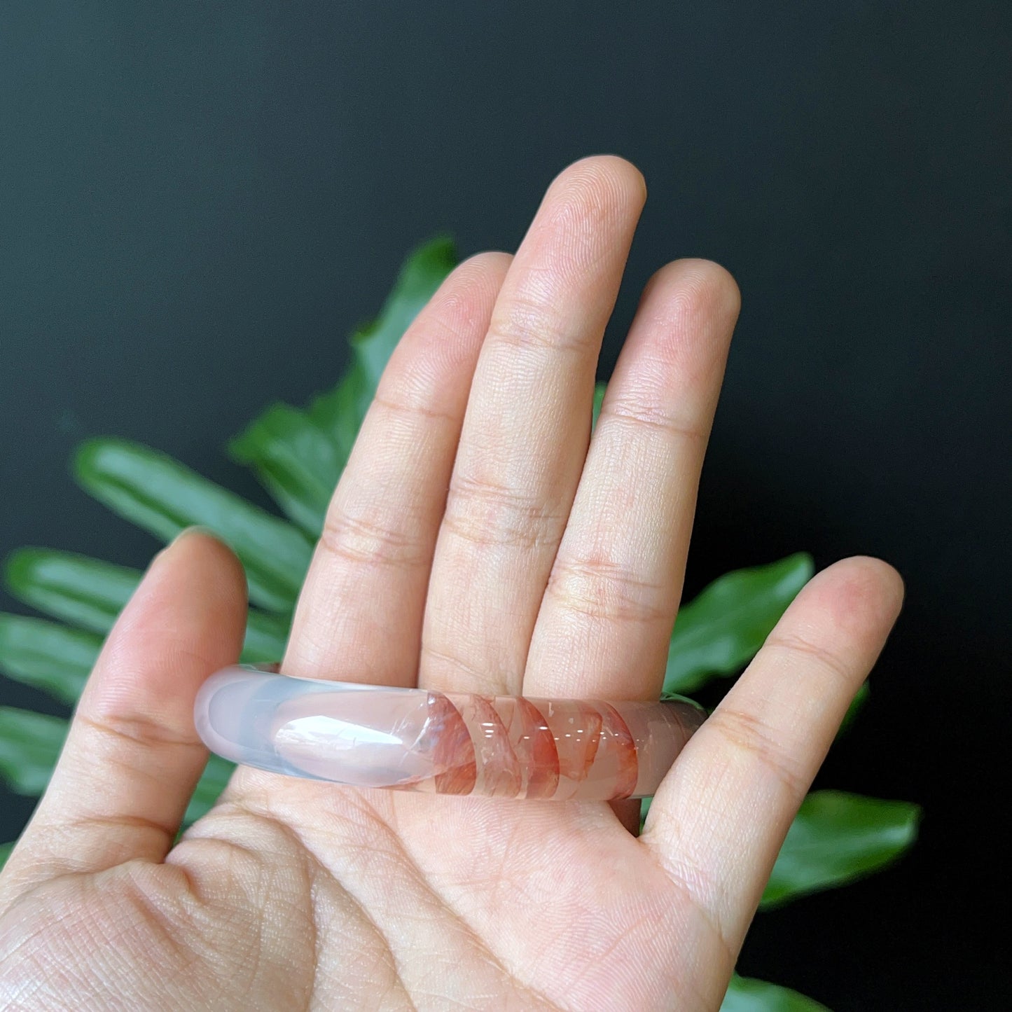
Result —
<instances>
[{"instance_id":1,"label":"tallest green leaf, rising directly behind the index fingertip","mask_svg":"<svg viewBox=\"0 0 1012 1012\"><path fill-rule=\"evenodd\" d=\"M413 250L380 316L351 338L351 365L329 394L316 398L310 418L330 433L346 460L380 376L412 320L456 265L452 240L442 236Z\"/></svg>"}]
</instances>

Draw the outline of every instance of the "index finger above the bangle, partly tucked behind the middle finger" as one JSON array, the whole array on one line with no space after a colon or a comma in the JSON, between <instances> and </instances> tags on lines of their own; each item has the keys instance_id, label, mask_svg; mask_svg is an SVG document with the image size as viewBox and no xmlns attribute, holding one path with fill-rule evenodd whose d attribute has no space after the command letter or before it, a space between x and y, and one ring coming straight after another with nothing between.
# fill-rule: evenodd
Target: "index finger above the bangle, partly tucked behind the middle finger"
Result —
<instances>
[{"instance_id":1,"label":"index finger above the bangle, partly tucked behind the middle finger","mask_svg":"<svg viewBox=\"0 0 1012 1012\"><path fill-rule=\"evenodd\" d=\"M415 684L468 392L509 261L485 253L457 267L391 356L327 512L286 674Z\"/></svg>"}]
</instances>

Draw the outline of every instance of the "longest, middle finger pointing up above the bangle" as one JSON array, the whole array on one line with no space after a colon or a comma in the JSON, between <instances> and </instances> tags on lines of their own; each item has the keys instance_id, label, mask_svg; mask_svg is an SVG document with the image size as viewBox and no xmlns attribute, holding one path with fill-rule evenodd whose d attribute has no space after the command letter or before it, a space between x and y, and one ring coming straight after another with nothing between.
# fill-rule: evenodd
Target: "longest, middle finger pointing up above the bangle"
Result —
<instances>
[{"instance_id":1,"label":"longest, middle finger pointing up above the bangle","mask_svg":"<svg viewBox=\"0 0 1012 1012\"><path fill-rule=\"evenodd\" d=\"M584 159L549 188L475 373L429 582L419 683L520 691L590 435L594 371L643 177Z\"/></svg>"}]
</instances>

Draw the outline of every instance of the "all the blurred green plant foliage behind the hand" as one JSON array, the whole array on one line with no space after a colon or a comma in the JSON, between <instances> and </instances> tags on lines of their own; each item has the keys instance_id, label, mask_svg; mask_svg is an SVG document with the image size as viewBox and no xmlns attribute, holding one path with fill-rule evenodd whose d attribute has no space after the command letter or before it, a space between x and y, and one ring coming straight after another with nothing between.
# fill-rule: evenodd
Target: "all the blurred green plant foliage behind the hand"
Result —
<instances>
[{"instance_id":1,"label":"all the blurred green plant foliage behind the hand","mask_svg":"<svg viewBox=\"0 0 1012 1012\"><path fill-rule=\"evenodd\" d=\"M157 450L114 438L78 449L78 484L113 512L163 541L199 524L242 560L251 608L243 659L284 652L296 599L327 502L405 329L456 262L448 239L406 260L380 316L351 337L351 362L337 386L306 408L274 404L228 446L277 503L282 518ZM594 397L600 410L603 385ZM804 554L729 573L678 614L664 681L666 695L695 691L739 672L813 573ZM0 670L71 706L112 626L141 579L138 570L52 549L21 549L7 560L10 593L58 619L0 614ZM861 698L863 699L863 693ZM66 718L0 707L0 776L21 794L45 789L66 736ZM212 756L186 812L189 824L217 799L232 772ZM644 811L649 808L649 800ZM764 907L841 886L894 860L914 841L918 810L839 791L809 795L787 834L763 896ZM0 845L0 865L13 844ZM812 999L777 985L735 976L725 1012L814 1012Z\"/></svg>"}]
</instances>

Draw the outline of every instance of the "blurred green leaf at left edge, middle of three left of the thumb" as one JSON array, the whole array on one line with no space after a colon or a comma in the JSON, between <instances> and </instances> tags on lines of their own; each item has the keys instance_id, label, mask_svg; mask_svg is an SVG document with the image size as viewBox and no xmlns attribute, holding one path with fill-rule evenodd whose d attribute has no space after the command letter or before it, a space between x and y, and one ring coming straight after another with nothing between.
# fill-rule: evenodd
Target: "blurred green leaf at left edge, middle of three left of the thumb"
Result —
<instances>
[{"instance_id":1,"label":"blurred green leaf at left edge, middle of three left of the thumb","mask_svg":"<svg viewBox=\"0 0 1012 1012\"><path fill-rule=\"evenodd\" d=\"M101 646L94 632L0 614L0 670L68 705L81 694Z\"/></svg>"}]
</instances>

